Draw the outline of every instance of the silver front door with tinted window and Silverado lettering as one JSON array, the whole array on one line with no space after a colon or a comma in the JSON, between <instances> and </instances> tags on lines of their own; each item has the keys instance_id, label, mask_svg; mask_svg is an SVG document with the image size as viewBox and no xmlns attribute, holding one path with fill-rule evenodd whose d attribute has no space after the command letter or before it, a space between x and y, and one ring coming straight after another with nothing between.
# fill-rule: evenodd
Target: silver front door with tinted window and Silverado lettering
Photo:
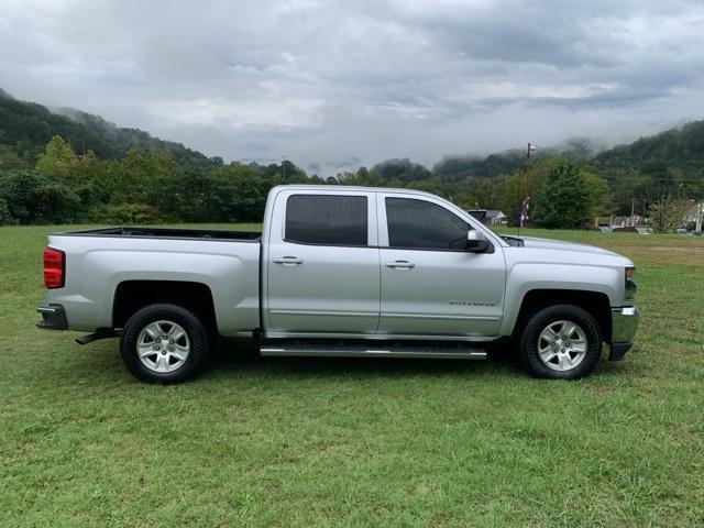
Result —
<instances>
[{"instance_id":1,"label":"silver front door with tinted window and Silverado lettering","mask_svg":"<svg viewBox=\"0 0 704 528\"><path fill-rule=\"evenodd\" d=\"M464 250L470 224L429 197L378 195L380 333L493 337L501 324L505 262Z\"/></svg>"}]
</instances>

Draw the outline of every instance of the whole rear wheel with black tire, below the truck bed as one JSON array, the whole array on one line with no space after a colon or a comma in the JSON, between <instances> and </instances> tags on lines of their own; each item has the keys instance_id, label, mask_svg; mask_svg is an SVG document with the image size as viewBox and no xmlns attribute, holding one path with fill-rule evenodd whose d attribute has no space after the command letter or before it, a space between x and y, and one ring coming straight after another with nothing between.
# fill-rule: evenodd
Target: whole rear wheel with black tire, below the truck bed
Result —
<instances>
[{"instance_id":1,"label":"whole rear wheel with black tire, below the truck bed","mask_svg":"<svg viewBox=\"0 0 704 528\"><path fill-rule=\"evenodd\" d=\"M164 336L160 337L163 341L150 341L154 328L163 331ZM185 338L178 337L180 330ZM178 340L174 342L167 337L178 337ZM150 351L150 348L155 350ZM150 383L193 378L208 364L210 348L209 334L201 320L186 308L169 304L151 305L134 312L124 324L120 339L120 352L128 371L138 380Z\"/></svg>"}]
</instances>

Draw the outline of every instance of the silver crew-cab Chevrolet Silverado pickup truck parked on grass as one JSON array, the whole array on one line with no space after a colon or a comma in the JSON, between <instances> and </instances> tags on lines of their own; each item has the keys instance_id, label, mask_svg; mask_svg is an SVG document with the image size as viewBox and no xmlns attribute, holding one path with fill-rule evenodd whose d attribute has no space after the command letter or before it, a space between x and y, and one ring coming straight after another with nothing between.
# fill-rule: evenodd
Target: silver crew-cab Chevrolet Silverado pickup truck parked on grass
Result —
<instances>
[{"instance_id":1,"label":"silver crew-cab Chevrolet Silverado pickup truck parked on grass","mask_svg":"<svg viewBox=\"0 0 704 528\"><path fill-rule=\"evenodd\" d=\"M120 337L139 380L178 382L220 337L262 355L484 359L515 344L531 375L575 378L638 326L634 264L499 237L437 196L280 186L261 233L109 228L52 234L40 328Z\"/></svg>"}]
</instances>

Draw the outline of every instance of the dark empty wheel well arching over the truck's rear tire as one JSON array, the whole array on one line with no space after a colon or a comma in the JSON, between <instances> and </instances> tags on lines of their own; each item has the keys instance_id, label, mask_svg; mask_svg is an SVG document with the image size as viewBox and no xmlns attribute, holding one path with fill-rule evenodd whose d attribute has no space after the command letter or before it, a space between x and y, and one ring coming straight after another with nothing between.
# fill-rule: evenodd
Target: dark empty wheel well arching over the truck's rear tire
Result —
<instances>
[{"instance_id":1,"label":"dark empty wheel well arching over the truck's rear tire","mask_svg":"<svg viewBox=\"0 0 704 528\"><path fill-rule=\"evenodd\" d=\"M198 316L207 328L217 330L210 288L182 280L125 280L118 285L112 304L112 327L122 328L136 310L156 302L178 305Z\"/></svg>"}]
</instances>

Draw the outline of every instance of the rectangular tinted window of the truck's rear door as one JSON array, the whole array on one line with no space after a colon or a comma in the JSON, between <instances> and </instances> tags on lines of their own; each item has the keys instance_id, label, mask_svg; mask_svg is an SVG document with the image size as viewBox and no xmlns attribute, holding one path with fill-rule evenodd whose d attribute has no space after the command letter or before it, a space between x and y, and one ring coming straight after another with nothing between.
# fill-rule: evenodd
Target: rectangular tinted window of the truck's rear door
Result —
<instances>
[{"instance_id":1,"label":"rectangular tinted window of the truck's rear door","mask_svg":"<svg viewBox=\"0 0 704 528\"><path fill-rule=\"evenodd\" d=\"M366 196L292 195L286 201L287 242L367 245Z\"/></svg>"}]
</instances>

